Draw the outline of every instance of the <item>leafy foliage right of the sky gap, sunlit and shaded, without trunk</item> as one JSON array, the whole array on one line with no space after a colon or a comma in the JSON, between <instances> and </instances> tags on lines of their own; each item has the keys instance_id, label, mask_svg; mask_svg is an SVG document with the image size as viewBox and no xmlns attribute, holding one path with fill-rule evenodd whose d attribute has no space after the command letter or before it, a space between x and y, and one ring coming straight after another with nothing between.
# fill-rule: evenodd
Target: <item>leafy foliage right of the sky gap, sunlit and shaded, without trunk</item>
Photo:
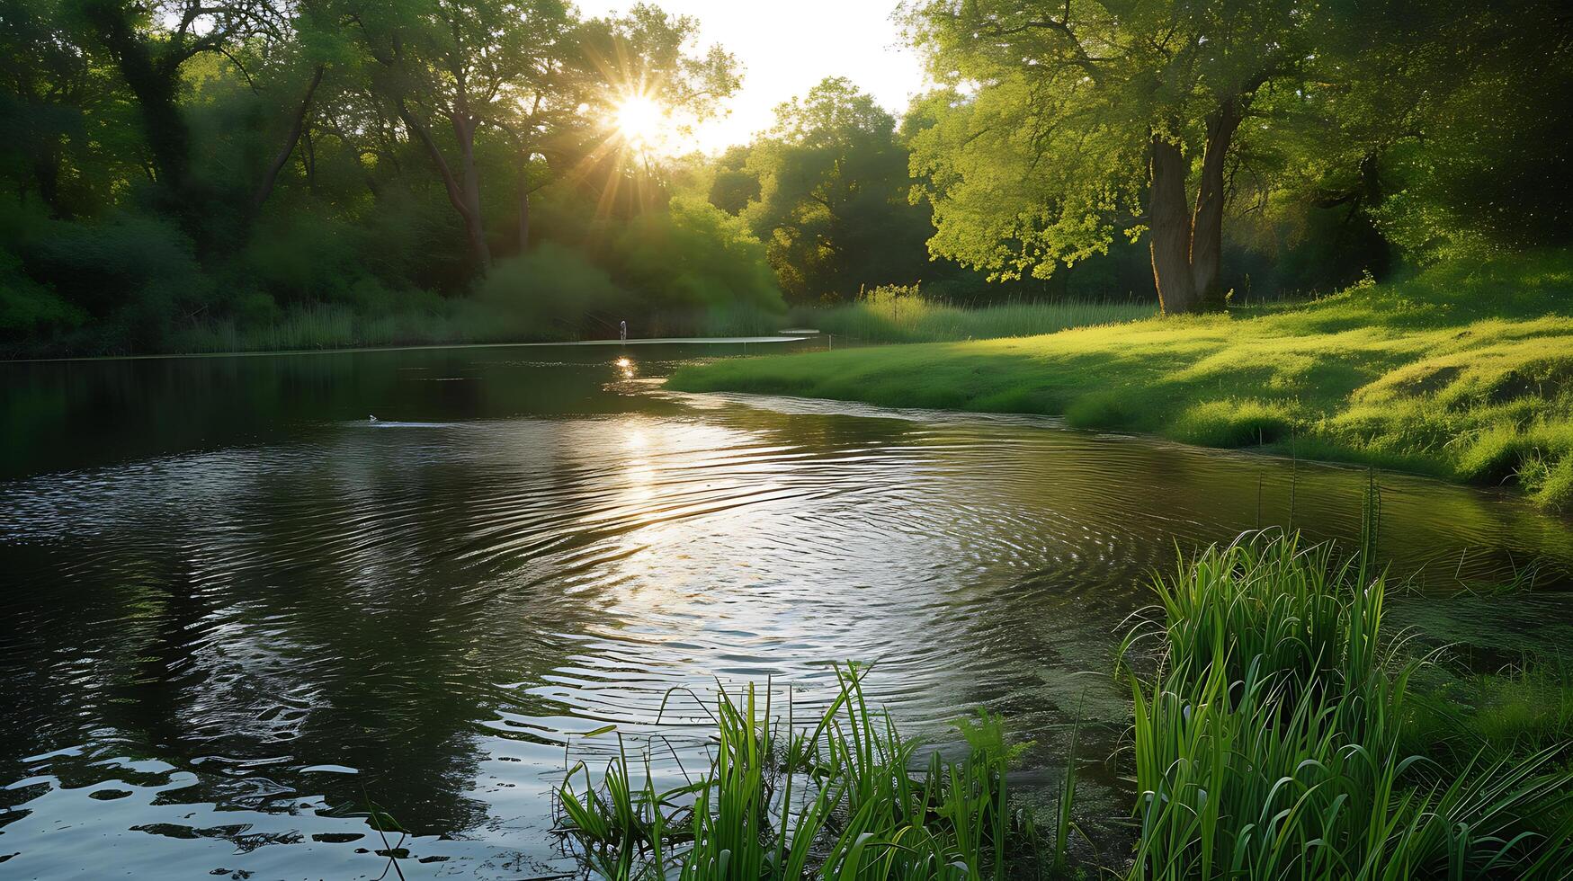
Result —
<instances>
[{"instance_id":1,"label":"leafy foliage right of the sky gap, sunlit and shaded, without trunk","mask_svg":"<svg viewBox=\"0 0 1573 881\"><path fill-rule=\"evenodd\" d=\"M939 83L906 120L930 249L996 277L1046 277L1125 238L1159 247L1159 230L1194 260L1192 234L1216 234L1218 168L1235 164L1229 211L1249 222L1229 227L1251 244L1224 267L1236 291L1247 274L1266 291L1383 272L1387 242L1430 261L1570 241L1559 3L906 11ZM1186 178L1172 190L1166 151Z\"/></svg>"}]
</instances>

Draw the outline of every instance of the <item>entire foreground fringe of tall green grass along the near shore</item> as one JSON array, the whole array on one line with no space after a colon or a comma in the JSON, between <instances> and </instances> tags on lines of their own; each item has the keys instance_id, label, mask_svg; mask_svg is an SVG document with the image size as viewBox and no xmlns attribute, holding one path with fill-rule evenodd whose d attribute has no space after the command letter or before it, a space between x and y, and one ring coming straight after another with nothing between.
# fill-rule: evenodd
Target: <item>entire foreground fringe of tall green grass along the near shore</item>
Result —
<instances>
[{"instance_id":1,"label":"entire foreground fringe of tall green grass along the near shore","mask_svg":"<svg viewBox=\"0 0 1573 881\"><path fill-rule=\"evenodd\" d=\"M1471 676L1477 699L1438 714L1453 695L1416 684L1433 659L1386 632L1370 558L1258 532L1155 577L1158 604L1120 651L1133 711L1112 761L1136 794L1125 857L1070 857L1092 820L1074 738L1040 826L1013 801L1022 744L1007 746L999 717L961 724L963 758L922 761L868 708L856 667L807 725L772 716L769 692L761 706L752 687L719 689L711 766L684 787L658 791L648 760L637 783L626 750L599 787L576 766L560 834L613 879L1565 878L1568 680ZM1479 713L1529 694L1549 703Z\"/></svg>"}]
</instances>

